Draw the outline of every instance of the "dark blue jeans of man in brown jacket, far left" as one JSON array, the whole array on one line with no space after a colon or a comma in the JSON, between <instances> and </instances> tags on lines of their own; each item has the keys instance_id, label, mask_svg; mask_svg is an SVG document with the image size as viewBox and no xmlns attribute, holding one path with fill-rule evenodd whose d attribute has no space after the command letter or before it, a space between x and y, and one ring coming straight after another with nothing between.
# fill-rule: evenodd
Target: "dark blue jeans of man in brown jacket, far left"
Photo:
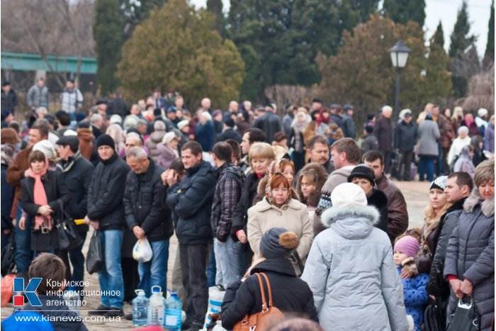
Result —
<instances>
[{"instance_id":1,"label":"dark blue jeans of man in brown jacket, far left","mask_svg":"<svg viewBox=\"0 0 496 331\"><path fill-rule=\"evenodd\" d=\"M26 230L19 228L19 220L22 214L21 203L17 205L16 211L16 252L14 260L16 261L17 272L28 274L29 265L31 264L31 230L30 230L30 217L26 219Z\"/></svg>"}]
</instances>

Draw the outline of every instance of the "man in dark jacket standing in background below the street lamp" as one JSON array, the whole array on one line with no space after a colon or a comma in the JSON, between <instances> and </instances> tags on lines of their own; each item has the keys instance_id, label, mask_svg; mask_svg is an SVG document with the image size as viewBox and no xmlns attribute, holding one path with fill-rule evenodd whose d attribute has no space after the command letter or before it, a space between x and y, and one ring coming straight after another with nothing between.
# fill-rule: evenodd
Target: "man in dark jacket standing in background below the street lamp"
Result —
<instances>
[{"instance_id":1,"label":"man in dark jacket standing in background below the street lamp","mask_svg":"<svg viewBox=\"0 0 496 331\"><path fill-rule=\"evenodd\" d=\"M412 167L413 148L417 145L417 125L412 122L412 113L405 113L395 127L395 149L401 153L400 180L410 181L410 168Z\"/></svg>"}]
</instances>

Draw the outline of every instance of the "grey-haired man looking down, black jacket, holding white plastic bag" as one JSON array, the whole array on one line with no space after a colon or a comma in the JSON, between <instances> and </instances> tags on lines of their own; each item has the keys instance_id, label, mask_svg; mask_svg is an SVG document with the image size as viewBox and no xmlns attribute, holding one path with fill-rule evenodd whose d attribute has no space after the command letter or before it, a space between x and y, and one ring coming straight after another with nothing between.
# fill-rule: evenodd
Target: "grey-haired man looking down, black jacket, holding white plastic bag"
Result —
<instances>
[{"instance_id":1,"label":"grey-haired man looking down, black jacket, holding white plastic bag","mask_svg":"<svg viewBox=\"0 0 496 331\"><path fill-rule=\"evenodd\" d=\"M131 171L125 182L125 220L135 237L147 239L152 247L152 259L138 264L138 288L150 296L152 286L167 288L169 238L174 232L171 211L164 206L166 188L160 175L165 169L148 158L142 147L131 147L126 162Z\"/></svg>"}]
</instances>

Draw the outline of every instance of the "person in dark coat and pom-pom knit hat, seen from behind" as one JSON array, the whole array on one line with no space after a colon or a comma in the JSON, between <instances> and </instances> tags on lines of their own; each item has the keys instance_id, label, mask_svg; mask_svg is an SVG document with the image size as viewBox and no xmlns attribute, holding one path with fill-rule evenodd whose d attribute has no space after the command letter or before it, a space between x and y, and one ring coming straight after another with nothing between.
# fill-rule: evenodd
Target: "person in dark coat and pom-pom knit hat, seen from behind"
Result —
<instances>
[{"instance_id":1,"label":"person in dark coat and pom-pom knit hat, seen from behind","mask_svg":"<svg viewBox=\"0 0 496 331\"><path fill-rule=\"evenodd\" d=\"M246 315L261 313L264 300L261 297L259 276L266 289L264 292L270 291L265 293L265 301L269 298L267 308L277 308L282 313L303 314L318 322L312 291L305 281L296 276L293 264L288 259L298 244L298 236L284 228L271 228L262 235L261 259L254 262L247 271L246 278L232 283L226 290L221 310L222 327L227 330L242 330L241 322ZM257 273L265 274L266 279ZM269 320L271 313L268 315ZM261 329L257 327L257 330Z\"/></svg>"}]
</instances>

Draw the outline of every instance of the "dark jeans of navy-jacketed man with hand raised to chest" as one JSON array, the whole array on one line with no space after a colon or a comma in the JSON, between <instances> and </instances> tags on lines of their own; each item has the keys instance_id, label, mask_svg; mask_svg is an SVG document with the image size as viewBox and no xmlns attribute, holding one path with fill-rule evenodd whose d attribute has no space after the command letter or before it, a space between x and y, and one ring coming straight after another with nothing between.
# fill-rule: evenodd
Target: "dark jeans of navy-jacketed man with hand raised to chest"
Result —
<instances>
[{"instance_id":1,"label":"dark jeans of navy-jacketed man with hand raised to chest","mask_svg":"<svg viewBox=\"0 0 496 331\"><path fill-rule=\"evenodd\" d=\"M208 245L181 245L181 272L184 290L188 296L188 309L184 324L203 326L208 308L206 271Z\"/></svg>"}]
</instances>

